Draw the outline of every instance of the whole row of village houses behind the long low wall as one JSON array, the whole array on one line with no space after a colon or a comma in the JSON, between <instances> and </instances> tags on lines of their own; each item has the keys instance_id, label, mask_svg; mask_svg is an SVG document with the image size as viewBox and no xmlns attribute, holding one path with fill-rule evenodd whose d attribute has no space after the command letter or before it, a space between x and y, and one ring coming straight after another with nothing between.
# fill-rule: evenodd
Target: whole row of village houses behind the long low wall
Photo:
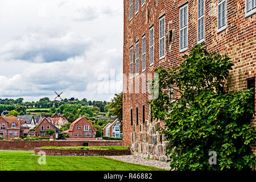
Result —
<instances>
[{"instance_id":1,"label":"whole row of village houses behind the long low wall","mask_svg":"<svg viewBox=\"0 0 256 182\"><path fill-rule=\"evenodd\" d=\"M64 115L18 115L18 117L0 117L0 137L23 138L27 136L54 137L59 139L60 127L69 121ZM52 130L51 134L47 130ZM120 122L115 119L103 129L106 137L122 137ZM63 134L69 136L69 140L95 139L96 129L84 117L77 118L71 123L68 130Z\"/></svg>"}]
</instances>

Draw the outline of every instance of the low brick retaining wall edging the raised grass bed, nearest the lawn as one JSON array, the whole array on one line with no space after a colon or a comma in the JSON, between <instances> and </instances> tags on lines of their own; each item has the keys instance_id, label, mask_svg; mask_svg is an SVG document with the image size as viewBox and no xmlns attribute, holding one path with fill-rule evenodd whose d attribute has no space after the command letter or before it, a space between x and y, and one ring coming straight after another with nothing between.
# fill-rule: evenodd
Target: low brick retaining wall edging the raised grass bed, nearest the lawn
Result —
<instances>
[{"instance_id":1,"label":"low brick retaining wall edging the raised grass bed, nearest the lawn","mask_svg":"<svg viewBox=\"0 0 256 182\"><path fill-rule=\"evenodd\" d=\"M104 156L131 155L130 150L73 150L55 148L35 148L35 155L63 155L63 156Z\"/></svg>"}]
</instances>

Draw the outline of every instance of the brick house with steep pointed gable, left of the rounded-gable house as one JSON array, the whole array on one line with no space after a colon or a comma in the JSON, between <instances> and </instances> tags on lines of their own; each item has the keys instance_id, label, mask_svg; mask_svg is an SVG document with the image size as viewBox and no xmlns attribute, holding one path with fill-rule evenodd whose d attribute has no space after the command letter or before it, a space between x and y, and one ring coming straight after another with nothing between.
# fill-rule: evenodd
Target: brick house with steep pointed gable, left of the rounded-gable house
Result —
<instances>
[{"instance_id":1,"label":"brick house with steep pointed gable, left of the rounded-gable house","mask_svg":"<svg viewBox=\"0 0 256 182\"><path fill-rule=\"evenodd\" d=\"M47 130L54 130L55 133L52 135L53 138L59 137L59 129L52 124L51 119L49 118L43 118L42 121L39 123L38 126L36 126L34 134L36 137L51 137L46 134ZM31 135L33 133L30 133Z\"/></svg>"}]
</instances>

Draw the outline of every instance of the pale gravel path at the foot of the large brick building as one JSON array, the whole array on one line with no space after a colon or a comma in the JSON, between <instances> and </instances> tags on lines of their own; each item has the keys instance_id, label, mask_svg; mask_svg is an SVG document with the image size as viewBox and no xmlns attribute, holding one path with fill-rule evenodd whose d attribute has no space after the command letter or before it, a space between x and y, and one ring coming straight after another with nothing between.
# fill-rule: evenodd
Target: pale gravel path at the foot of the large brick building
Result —
<instances>
[{"instance_id":1,"label":"pale gravel path at the foot of the large brick building","mask_svg":"<svg viewBox=\"0 0 256 182\"><path fill-rule=\"evenodd\" d=\"M127 163L142 164L145 166L152 166L152 167L170 170L169 163L162 162L159 160L144 159L144 158L139 158L133 155L113 155L113 156L106 156L106 157L122 160L123 162L127 162Z\"/></svg>"}]
</instances>

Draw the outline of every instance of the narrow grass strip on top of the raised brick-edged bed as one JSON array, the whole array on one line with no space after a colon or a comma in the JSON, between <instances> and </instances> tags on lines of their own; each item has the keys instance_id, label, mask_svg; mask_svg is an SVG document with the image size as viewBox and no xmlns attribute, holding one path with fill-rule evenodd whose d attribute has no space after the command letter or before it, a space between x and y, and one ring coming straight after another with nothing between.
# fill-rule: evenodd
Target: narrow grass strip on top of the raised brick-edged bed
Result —
<instances>
[{"instance_id":1,"label":"narrow grass strip on top of the raised brick-edged bed","mask_svg":"<svg viewBox=\"0 0 256 182\"><path fill-rule=\"evenodd\" d=\"M76 150L129 150L129 147L123 146L77 146L77 147L41 147L41 148L56 148L56 149L76 149Z\"/></svg>"}]
</instances>

